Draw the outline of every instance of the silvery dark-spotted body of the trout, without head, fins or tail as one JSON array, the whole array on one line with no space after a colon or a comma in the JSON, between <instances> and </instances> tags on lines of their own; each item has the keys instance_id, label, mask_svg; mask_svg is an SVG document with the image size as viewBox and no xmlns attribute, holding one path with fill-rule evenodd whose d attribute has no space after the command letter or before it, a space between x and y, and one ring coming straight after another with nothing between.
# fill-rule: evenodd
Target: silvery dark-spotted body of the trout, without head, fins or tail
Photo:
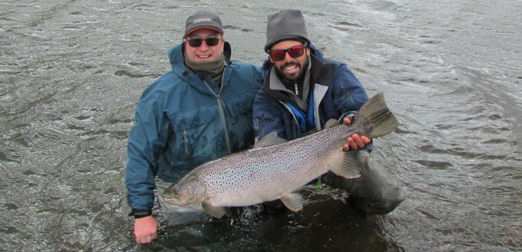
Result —
<instances>
[{"instance_id":1,"label":"silvery dark-spotted body of the trout, without head, fins or tail","mask_svg":"<svg viewBox=\"0 0 522 252\"><path fill-rule=\"evenodd\" d=\"M348 131L345 125L335 126L295 141L221 157L191 171L198 183L190 186L195 198L216 206L280 198L325 173L325 152L331 152L333 145L342 148Z\"/></svg>"}]
</instances>

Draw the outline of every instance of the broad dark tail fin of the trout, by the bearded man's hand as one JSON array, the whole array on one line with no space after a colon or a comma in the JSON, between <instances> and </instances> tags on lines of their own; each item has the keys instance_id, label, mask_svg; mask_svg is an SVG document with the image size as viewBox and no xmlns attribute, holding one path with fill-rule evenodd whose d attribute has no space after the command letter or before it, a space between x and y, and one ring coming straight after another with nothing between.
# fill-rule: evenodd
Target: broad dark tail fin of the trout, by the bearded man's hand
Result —
<instances>
[{"instance_id":1,"label":"broad dark tail fin of the trout, by the bearded man's hand","mask_svg":"<svg viewBox=\"0 0 522 252\"><path fill-rule=\"evenodd\" d=\"M363 136L370 139L393 132L399 122L386 107L383 93L374 95L359 109L354 118L354 125L365 125Z\"/></svg>"}]
</instances>

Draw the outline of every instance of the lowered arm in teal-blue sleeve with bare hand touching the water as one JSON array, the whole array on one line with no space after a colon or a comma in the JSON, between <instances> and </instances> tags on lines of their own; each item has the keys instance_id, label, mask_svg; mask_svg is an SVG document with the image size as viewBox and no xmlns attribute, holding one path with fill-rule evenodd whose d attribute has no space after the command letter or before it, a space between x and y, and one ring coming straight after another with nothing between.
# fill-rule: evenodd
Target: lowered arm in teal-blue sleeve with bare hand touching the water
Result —
<instances>
[{"instance_id":1,"label":"lowered arm in teal-blue sleeve with bare hand touching the water","mask_svg":"<svg viewBox=\"0 0 522 252\"><path fill-rule=\"evenodd\" d=\"M157 174L157 159L169 134L168 118L164 117L157 105L161 103L161 98L158 100L156 97L154 102L147 102L149 97L143 95L136 108L135 123L129 133L125 171L127 200L132 207L129 215L135 218L134 235L138 243L150 242L157 237L159 223L152 217L154 178Z\"/></svg>"}]
</instances>

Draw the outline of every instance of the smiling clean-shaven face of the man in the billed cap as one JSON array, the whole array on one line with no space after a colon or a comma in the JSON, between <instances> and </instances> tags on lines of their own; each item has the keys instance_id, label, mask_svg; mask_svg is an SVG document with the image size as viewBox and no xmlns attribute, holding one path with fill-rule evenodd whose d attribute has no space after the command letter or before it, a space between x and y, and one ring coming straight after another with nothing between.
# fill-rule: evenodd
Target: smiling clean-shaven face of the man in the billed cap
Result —
<instances>
[{"instance_id":1,"label":"smiling clean-shaven face of the man in the billed cap","mask_svg":"<svg viewBox=\"0 0 522 252\"><path fill-rule=\"evenodd\" d=\"M203 39L199 47L191 47L189 40L191 39ZM205 38L221 38L217 45L209 46L205 42ZM223 54L223 48L225 45L225 38L223 35L212 29L202 28L191 32L187 37L183 39L185 45L185 53L187 58L191 61L216 61Z\"/></svg>"}]
</instances>

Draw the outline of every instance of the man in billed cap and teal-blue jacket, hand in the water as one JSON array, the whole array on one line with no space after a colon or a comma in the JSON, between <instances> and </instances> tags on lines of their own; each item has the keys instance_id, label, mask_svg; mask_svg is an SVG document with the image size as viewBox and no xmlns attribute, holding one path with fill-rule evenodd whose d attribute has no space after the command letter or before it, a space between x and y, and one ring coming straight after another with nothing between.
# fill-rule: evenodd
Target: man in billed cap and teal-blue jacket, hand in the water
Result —
<instances>
[{"instance_id":1,"label":"man in billed cap and teal-blue jacket, hand in the water","mask_svg":"<svg viewBox=\"0 0 522 252\"><path fill-rule=\"evenodd\" d=\"M252 104L262 70L232 63L230 55L219 16L191 15L182 44L168 52L172 70L148 86L138 102L125 174L138 243L157 237L155 187L169 220L205 218L200 207L164 203L164 189L196 166L244 150L253 141Z\"/></svg>"}]
</instances>

